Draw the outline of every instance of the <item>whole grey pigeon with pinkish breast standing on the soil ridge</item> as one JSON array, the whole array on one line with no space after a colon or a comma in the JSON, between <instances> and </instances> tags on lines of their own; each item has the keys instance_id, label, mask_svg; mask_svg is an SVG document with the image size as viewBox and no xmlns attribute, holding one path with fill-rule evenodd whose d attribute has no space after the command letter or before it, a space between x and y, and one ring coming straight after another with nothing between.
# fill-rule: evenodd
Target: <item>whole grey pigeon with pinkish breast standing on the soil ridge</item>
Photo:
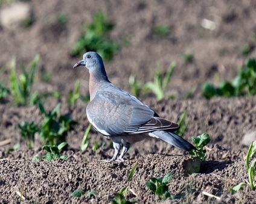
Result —
<instances>
[{"instance_id":1,"label":"whole grey pigeon with pinkish breast standing on the soil ridge","mask_svg":"<svg viewBox=\"0 0 256 204\"><path fill-rule=\"evenodd\" d=\"M78 66L85 66L90 75L87 118L97 132L113 142L115 153L109 161L124 161L130 145L147 137L159 138L186 151L196 149L174 133L179 129L178 123L160 117L137 97L112 84L97 52L83 54L83 59L75 63L73 69Z\"/></svg>"}]
</instances>

